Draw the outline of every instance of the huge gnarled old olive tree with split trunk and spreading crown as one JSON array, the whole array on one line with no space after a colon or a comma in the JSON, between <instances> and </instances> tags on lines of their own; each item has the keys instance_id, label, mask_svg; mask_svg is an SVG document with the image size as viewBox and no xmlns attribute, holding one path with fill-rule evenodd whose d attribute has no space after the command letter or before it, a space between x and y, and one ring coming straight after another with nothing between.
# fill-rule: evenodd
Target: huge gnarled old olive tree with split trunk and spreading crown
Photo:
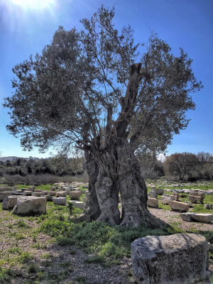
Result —
<instances>
[{"instance_id":1,"label":"huge gnarled old olive tree with split trunk and spreading crown","mask_svg":"<svg viewBox=\"0 0 213 284\"><path fill-rule=\"evenodd\" d=\"M59 27L42 55L13 68L7 129L21 133L26 150L84 152L89 197L80 221L134 227L146 220L158 227L135 153L165 150L187 126L185 111L195 108L191 94L202 84L182 49L175 57L155 34L134 44L131 27L119 32L113 18L114 8L102 6L81 21L80 32Z\"/></svg>"}]
</instances>

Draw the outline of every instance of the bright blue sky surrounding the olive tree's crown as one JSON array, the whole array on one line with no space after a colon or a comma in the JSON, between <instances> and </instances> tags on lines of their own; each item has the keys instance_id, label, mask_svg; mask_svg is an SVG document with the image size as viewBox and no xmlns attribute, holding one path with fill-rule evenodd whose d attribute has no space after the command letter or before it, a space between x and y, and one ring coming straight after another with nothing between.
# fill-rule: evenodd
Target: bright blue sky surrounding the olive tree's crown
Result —
<instances>
[{"instance_id":1,"label":"bright blue sky surrounding the olive tree's crown","mask_svg":"<svg viewBox=\"0 0 213 284\"><path fill-rule=\"evenodd\" d=\"M13 89L12 67L29 55L41 53L58 26L82 28L82 18L90 18L104 4L116 3L114 23L120 29L128 24L135 30L135 42L148 40L150 30L165 40L175 55L179 48L192 58L192 70L204 89L193 94L195 111L187 112L189 126L173 138L168 155L175 152L213 154L213 1L212 0L0 0L0 151L2 156L48 157L22 151L20 141L6 131L10 119L3 109L4 97Z\"/></svg>"}]
</instances>

